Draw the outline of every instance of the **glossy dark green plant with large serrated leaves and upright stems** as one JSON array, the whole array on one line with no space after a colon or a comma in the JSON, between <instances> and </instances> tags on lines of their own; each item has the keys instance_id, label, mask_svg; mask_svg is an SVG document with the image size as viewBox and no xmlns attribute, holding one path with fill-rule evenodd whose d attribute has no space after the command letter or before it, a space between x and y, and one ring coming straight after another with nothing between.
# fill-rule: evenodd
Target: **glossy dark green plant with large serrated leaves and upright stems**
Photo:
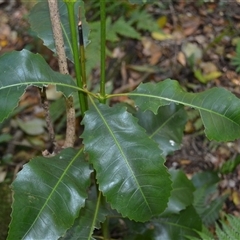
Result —
<instances>
[{"instance_id":1,"label":"glossy dark green plant with large serrated leaves and upright stems","mask_svg":"<svg viewBox=\"0 0 240 240\"><path fill-rule=\"evenodd\" d=\"M82 25L78 28L84 32L80 51L76 34L79 6ZM84 66L83 42L86 46L89 31L84 3L59 2L60 21L50 20L51 14L57 16L52 12L54 7L40 1L31 11L30 22L44 44L58 55L60 73L51 70L39 54L27 50L0 58L1 121L12 113L30 85L41 89L44 100L46 85L56 85L67 110L64 149L57 146L52 134L54 152L30 160L13 182L8 239L110 239L110 230L116 225L122 226L120 232L128 230L130 239L198 236L202 220L194 207L195 187L183 172L168 170L165 157L180 147L186 123L184 105L199 111L210 140L231 141L240 136L240 100L223 88L188 93L171 79L140 84L130 93L107 95L104 0L100 4L100 90L90 92ZM62 34L55 29L59 22L65 48L59 43ZM75 64L76 81L68 75L66 57ZM87 55L86 63L89 61ZM77 149L73 148L74 93L84 126L80 136L83 146ZM108 99L123 95L134 101L133 106L106 104ZM101 233L94 232L99 228Z\"/></svg>"}]
</instances>

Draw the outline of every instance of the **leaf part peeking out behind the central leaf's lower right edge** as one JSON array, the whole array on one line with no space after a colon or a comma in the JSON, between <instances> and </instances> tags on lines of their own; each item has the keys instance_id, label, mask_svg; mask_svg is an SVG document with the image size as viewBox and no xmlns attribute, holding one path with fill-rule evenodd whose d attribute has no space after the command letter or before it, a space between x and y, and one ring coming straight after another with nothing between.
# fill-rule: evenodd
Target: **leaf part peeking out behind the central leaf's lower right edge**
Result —
<instances>
[{"instance_id":1,"label":"leaf part peeking out behind the central leaf's lower right edge","mask_svg":"<svg viewBox=\"0 0 240 240\"><path fill-rule=\"evenodd\" d=\"M166 216L178 214L181 210L193 204L193 191L195 190L192 182L180 170L169 170L172 180L172 192L169 198L167 209L161 214Z\"/></svg>"}]
</instances>

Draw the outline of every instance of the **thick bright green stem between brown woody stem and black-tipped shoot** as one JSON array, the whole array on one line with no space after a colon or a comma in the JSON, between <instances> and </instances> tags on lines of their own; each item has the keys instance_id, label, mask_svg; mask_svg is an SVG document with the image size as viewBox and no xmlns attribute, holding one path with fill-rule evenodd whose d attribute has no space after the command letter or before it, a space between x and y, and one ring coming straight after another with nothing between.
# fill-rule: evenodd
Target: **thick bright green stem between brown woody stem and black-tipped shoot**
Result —
<instances>
[{"instance_id":1,"label":"thick bright green stem between brown woody stem and black-tipped shoot","mask_svg":"<svg viewBox=\"0 0 240 240\"><path fill-rule=\"evenodd\" d=\"M70 25L70 31L71 31L71 40L72 40L72 48L73 48L73 58L74 58L74 68L75 68L75 74L76 74L76 80L77 85L79 88L85 88L83 81L82 81L82 72L81 72L81 66L80 66L80 57L79 57L79 50L78 50L78 38L77 38L77 25L76 25L76 19L74 14L74 4L76 1L64 1L67 5L67 11L68 11L68 21ZM80 108L82 115L85 114L85 112L88 110L88 102L87 102L87 95L83 92L78 92L78 98L80 103Z\"/></svg>"}]
</instances>

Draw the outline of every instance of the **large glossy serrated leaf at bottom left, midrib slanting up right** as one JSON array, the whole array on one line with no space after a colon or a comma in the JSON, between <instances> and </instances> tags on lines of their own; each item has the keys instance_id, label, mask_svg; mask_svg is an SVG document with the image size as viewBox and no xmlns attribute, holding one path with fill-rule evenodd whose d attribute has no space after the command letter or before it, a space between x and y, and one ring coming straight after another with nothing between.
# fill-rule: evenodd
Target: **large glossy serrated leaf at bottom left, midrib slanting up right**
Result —
<instances>
[{"instance_id":1,"label":"large glossy serrated leaf at bottom left, midrib slanting up right","mask_svg":"<svg viewBox=\"0 0 240 240\"><path fill-rule=\"evenodd\" d=\"M90 173L83 151L70 148L24 165L13 183L8 240L62 236L85 204Z\"/></svg>"}]
</instances>

